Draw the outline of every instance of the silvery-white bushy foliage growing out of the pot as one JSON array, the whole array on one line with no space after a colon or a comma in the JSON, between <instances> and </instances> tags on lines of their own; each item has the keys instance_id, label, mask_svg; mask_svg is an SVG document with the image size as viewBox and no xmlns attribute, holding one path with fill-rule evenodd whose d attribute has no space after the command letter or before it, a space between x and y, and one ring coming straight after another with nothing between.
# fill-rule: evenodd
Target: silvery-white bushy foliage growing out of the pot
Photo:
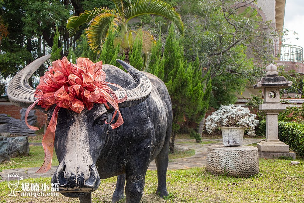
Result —
<instances>
[{"instance_id":1,"label":"silvery-white bushy foliage growing out of the pot","mask_svg":"<svg viewBox=\"0 0 304 203\"><path fill-rule=\"evenodd\" d=\"M206 118L206 129L209 133L221 126L244 127L249 135L254 133L254 128L259 121L256 115L251 114L248 108L230 105L221 105L219 109Z\"/></svg>"}]
</instances>

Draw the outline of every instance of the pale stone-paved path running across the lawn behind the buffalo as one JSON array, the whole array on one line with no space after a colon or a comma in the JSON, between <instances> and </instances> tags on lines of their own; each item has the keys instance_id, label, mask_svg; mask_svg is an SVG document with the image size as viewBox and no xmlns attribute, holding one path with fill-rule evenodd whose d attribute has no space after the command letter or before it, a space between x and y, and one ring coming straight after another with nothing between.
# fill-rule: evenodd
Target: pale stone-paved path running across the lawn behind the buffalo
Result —
<instances>
[{"instance_id":1,"label":"pale stone-paved path running across the lawn behind the buffalo","mask_svg":"<svg viewBox=\"0 0 304 203\"><path fill-rule=\"evenodd\" d=\"M245 138L243 144L249 145L249 144L260 142L261 140L262 139ZM192 167L206 166L206 156L207 156L208 146L223 144L222 139L203 139L202 142L212 142L212 143L201 144L201 143L195 143L195 140L193 140L193 139L175 139L176 147L194 149L195 155L193 155L191 157L172 159L172 161L169 162L168 170L170 170L170 169L188 169L188 168L192 168ZM30 143L30 145L41 145L41 143ZM57 166L52 166L52 168L49 171L47 171L46 173L36 173L36 171L38 169L39 169L39 167L3 170L2 172L0 172L0 177L2 178L2 180L0 180L0 182L7 180L8 174L11 174L11 173L15 173L15 174L19 173L20 176L23 176L23 179L24 178L51 177L51 176L53 176L55 170L57 169ZM150 163L148 170L156 170L154 160Z\"/></svg>"}]
</instances>

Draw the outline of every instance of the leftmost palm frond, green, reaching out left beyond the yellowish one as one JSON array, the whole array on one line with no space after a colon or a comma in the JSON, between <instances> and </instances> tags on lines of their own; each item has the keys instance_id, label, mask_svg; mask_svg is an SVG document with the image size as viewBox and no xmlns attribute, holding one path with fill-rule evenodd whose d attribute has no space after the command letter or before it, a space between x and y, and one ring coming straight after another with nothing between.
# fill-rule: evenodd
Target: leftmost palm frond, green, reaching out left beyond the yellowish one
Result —
<instances>
[{"instance_id":1,"label":"leftmost palm frond, green, reaching out left beyond the yellowish one","mask_svg":"<svg viewBox=\"0 0 304 203\"><path fill-rule=\"evenodd\" d=\"M95 8L92 11L84 11L79 16L71 16L67 20L67 30L69 31L70 36L74 35L82 24L91 22L95 16L111 11L112 10L106 8Z\"/></svg>"}]
</instances>

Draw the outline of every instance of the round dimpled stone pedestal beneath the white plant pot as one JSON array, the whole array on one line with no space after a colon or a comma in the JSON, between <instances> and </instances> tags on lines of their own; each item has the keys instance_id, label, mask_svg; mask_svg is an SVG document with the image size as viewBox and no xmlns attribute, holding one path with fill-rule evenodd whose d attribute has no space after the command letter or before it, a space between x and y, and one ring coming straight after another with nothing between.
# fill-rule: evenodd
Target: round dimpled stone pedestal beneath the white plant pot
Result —
<instances>
[{"instance_id":1,"label":"round dimpled stone pedestal beneath the white plant pot","mask_svg":"<svg viewBox=\"0 0 304 203\"><path fill-rule=\"evenodd\" d=\"M215 175L249 177L259 173L257 147L212 145L207 150L206 170Z\"/></svg>"}]
</instances>

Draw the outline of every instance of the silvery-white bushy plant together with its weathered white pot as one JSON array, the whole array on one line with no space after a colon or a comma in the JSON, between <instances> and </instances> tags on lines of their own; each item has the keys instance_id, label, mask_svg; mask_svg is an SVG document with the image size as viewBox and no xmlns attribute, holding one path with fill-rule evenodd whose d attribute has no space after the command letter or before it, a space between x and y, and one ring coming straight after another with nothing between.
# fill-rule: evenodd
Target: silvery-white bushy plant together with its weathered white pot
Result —
<instances>
[{"instance_id":1,"label":"silvery-white bushy plant together with its weathered white pot","mask_svg":"<svg viewBox=\"0 0 304 203\"><path fill-rule=\"evenodd\" d=\"M254 133L259 123L255 114L250 114L248 108L221 105L219 110L213 112L206 119L206 129L209 133L221 128L224 146L242 146L244 130L248 134Z\"/></svg>"}]
</instances>

